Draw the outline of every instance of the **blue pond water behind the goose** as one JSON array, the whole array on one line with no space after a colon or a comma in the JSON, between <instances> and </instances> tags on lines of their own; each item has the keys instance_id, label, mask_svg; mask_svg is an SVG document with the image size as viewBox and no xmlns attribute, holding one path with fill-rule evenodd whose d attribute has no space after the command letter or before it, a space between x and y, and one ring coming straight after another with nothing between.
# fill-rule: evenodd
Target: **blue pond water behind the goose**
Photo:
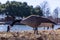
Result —
<instances>
[{"instance_id":1,"label":"blue pond water behind the goose","mask_svg":"<svg viewBox=\"0 0 60 40\"><path fill-rule=\"evenodd\" d=\"M7 26L8 25L0 25L0 31L6 31L7 30ZM54 26L54 30L57 29L57 28L60 28L60 25L55 25ZM32 27L30 26L27 26L27 25L14 25L10 31L27 31L27 30L33 30ZM38 30L44 30L43 27L39 27ZM47 30L45 28L45 30ZM51 30L51 29L49 29Z\"/></svg>"}]
</instances>

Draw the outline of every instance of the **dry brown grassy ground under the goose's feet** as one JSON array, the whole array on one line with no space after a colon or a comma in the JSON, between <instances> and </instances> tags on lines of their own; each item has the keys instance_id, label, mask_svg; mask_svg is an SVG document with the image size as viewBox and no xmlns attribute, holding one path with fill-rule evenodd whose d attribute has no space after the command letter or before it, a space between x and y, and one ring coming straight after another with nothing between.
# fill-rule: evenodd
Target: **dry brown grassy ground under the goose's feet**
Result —
<instances>
[{"instance_id":1,"label":"dry brown grassy ground under the goose's feet","mask_svg":"<svg viewBox=\"0 0 60 40\"><path fill-rule=\"evenodd\" d=\"M60 40L60 29L39 30L38 35L33 31L0 32L0 40Z\"/></svg>"}]
</instances>

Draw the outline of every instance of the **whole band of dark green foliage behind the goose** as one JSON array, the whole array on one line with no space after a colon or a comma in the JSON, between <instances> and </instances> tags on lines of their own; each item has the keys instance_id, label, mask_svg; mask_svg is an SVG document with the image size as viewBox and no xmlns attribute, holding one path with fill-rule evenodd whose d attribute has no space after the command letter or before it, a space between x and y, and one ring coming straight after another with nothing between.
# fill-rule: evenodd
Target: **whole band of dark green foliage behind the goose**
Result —
<instances>
[{"instance_id":1,"label":"whole band of dark green foliage behind the goose","mask_svg":"<svg viewBox=\"0 0 60 40\"><path fill-rule=\"evenodd\" d=\"M42 10L40 6L33 8L26 2L7 1L5 4L0 4L0 12L2 14L8 14L11 16L27 17L29 15L42 16Z\"/></svg>"}]
</instances>

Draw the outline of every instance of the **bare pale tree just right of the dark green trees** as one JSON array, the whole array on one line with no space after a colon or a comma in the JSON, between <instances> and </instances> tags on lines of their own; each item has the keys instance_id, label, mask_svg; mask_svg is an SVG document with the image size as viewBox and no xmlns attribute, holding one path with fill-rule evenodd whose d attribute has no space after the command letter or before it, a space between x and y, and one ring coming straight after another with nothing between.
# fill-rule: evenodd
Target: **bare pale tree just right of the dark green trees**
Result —
<instances>
[{"instance_id":1,"label":"bare pale tree just right of the dark green trees","mask_svg":"<svg viewBox=\"0 0 60 40\"><path fill-rule=\"evenodd\" d=\"M41 8L43 10L43 15L45 17L48 17L50 15L50 8L48 6L48 2L47 1L44 1L42 4L41 4Z\"/></svg>"}]
</instances>

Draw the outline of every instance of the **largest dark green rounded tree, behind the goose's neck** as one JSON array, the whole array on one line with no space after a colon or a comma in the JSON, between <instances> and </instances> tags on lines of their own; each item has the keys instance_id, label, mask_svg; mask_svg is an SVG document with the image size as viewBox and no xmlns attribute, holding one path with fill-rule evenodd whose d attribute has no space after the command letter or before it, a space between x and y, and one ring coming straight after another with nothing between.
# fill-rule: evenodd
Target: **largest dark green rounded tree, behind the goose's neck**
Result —
<instances>
[{"instance_id":1,"label":"largest dark green rounded tree, behind the goose's neck","mask_svg":"<svg viewBox=\"0 0 60 40\"><path fill-rule=\"evenodd\" d=\"M7 3L6 11L9 15L26 17L30 15L30 7L26 2L15 2Z\"/></svg>"}]
</instances>

